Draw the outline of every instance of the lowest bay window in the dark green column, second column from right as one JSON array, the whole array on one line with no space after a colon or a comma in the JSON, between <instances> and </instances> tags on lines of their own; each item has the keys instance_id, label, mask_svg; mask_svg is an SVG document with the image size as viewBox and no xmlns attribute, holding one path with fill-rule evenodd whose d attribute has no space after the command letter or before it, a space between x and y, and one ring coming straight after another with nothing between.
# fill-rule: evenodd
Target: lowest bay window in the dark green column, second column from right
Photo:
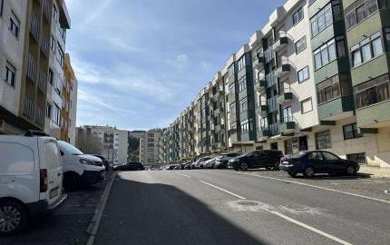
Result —
<instances>
[{"instance_id":1,"label":"lowest bay window in the dark green column, second column from right","mask_svg":"<svg viewBox=\"0 0 390 245\"><path fill-rule=\"evenodd\" d=\"M327 103L340 96L351 94L350 78L348 74L337 74L324 82L317 84L318 104Z\"/></svg>"}]
</instances>

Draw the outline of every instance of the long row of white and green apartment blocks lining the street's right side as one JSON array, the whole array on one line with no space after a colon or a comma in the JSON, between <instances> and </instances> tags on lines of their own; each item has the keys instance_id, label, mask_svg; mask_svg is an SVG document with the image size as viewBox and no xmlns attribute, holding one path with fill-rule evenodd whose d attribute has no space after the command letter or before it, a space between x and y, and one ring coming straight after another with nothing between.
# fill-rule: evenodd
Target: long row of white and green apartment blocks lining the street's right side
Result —
<instances>
[{"instance_id":1,"label":"long row of white and green apartment blocks lining the street's right side","mask_svg":"<svg viewBox=\"0 0 390 245\"><path fill-rule=\"evenodd\" d=\"M164 131L160 152L171 156L164 161L320 149L390 167L389 7L385 0L279 6Z\"/></svg>"}]
</instances>

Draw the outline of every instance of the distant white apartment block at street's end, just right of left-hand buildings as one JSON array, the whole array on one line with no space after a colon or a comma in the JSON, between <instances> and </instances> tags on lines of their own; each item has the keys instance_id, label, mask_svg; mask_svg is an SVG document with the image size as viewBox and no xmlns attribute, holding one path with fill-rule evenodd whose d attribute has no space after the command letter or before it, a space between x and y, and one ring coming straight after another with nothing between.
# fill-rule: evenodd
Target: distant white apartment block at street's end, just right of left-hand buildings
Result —
<instances>
[{"instance_id":1,"label":"distant white apartment block at street's end, just right of left-hand buildings","mask_svg":"<svg viewBox=\"0 0 390 245\"><path fill-rule=\"evenodd\" d=\"M76 128L76 146L82 152L100 154L114 165L128 159L129 132L111 126L84 125Z\"/></svg>"}]
</instances>

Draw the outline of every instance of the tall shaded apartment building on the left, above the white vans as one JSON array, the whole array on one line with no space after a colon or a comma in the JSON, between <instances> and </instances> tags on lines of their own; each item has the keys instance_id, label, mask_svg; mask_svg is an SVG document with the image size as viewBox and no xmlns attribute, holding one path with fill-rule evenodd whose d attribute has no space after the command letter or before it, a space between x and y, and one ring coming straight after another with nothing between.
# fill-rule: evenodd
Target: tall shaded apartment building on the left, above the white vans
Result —
<instances>
[{"instance_id":1,"label":"tall shaded apartment building on the left, above the white vans","mask_svg":"<svg viewBox=\"0 0 390 245\"><path fill-rule=\"evenodd\" d=\"M0 71L4 74L0 84L0 132L37 130L70 141L69 135L61 135L64 39L65 30L70 28L64 1L2 0L0 7Z\"/></svg>"}]
</instances>

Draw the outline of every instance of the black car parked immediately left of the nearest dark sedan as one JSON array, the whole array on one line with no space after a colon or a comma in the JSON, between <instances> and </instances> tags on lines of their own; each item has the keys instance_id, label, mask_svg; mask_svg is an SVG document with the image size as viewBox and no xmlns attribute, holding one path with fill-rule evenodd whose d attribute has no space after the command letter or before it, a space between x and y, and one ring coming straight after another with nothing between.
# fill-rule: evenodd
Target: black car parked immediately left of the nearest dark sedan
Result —
<instances>
[{"instance_id":1,"label":"black car parked immediately left of the nearest dark sedan","mask_svg":"<svg viewBox=\"0 0 390 245\"><path fill-rule=\"evenodd\" d=\"M236 171L265 168L267 170L278 169L278 162L283 153L274 150L258 150L244 153L229 160L229 165Z\"/></svg>"}]
</instances>

